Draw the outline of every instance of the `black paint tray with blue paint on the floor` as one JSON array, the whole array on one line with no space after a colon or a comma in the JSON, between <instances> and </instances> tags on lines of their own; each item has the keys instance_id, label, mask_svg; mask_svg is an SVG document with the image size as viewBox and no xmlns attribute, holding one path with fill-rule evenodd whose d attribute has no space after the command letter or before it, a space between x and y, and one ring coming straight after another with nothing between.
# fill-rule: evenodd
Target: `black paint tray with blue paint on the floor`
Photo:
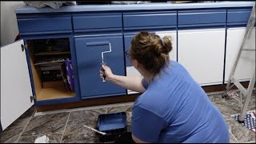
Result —
<instances>
[{"instance_id":1,"label":"black paint tray with blue paint on the floor","mask_svg":"<svg viewBox=\"0 0 256 144\"><path fill-rule=\"evenodd\" d=\"M97 127L106 135L99 134L101 142L115 141L120 134L127 132L126 112L98 115Z\"/></svg>"}]
</instances>

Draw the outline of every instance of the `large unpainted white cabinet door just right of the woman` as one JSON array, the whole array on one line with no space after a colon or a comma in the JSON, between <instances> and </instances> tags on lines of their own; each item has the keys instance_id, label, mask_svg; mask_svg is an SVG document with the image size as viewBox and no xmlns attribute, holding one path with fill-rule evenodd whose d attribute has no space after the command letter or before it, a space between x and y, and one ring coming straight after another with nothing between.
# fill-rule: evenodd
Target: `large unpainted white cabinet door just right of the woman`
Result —
<instances>
[{"instance_id":1,"label":"large unpainted white cabinet door just right of the woman","mask_svg":"<svg viewBox=\"0 0 256 144\"><path fill-rule=\"evenodd\" d=\"M222 84L225 29L179 30L178 62L201 86Z\"/></svg>"}]
</instances>

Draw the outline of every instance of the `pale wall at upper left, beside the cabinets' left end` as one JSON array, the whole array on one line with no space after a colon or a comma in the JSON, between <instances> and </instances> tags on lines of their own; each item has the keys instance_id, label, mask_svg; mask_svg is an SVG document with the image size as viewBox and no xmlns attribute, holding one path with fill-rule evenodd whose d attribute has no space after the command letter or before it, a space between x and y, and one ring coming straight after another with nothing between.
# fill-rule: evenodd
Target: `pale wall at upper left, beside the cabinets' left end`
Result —
<instances>
[{"instance_id":1,"label":"pale wall at upper left, beside the cabinets' left end","mask_svg":"<svg viewBox=\"0 0 256 144\"><path fill-rule=\"evenodd\" d=\"M18 25L14 9L18 6L25 6L19 2L1 2L1 46L14 42L18 34Z\"/></svg>"}]
</instances>

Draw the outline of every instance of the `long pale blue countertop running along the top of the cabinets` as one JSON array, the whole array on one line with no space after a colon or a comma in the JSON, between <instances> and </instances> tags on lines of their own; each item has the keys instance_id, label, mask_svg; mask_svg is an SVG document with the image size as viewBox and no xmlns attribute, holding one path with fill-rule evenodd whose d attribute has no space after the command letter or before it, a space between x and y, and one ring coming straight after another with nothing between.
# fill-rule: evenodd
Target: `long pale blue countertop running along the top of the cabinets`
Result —
<instances>
[{"instance_id":1,"label":"long pale blue countertop running along the top of the cabinets","mask_svg":"<svg viewBox=\"0 0 256 144\"><path fill-rule=\"evenodd\" d=\"M207 8L228 8L228 7L252 7L254 2L202 2L173 4L166 2L149 4L130 5L79 5L61 6L58 10L50 7L37 9L32 6L22 6L15 9L16 14L29 13L59 13L59 12L90 12L90 11L118 11L118 10L180 10L180 9L207 9Z\"/></svg>"}]
</instances>

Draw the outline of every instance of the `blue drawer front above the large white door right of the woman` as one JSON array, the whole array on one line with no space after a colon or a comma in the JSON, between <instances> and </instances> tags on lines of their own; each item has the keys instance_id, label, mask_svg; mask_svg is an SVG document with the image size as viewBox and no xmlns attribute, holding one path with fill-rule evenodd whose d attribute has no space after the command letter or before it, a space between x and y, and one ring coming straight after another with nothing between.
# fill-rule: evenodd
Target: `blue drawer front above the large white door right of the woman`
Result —
<instances>
[{"instance_id":1,"label":"blue drawer front above the large white door right of the woman","mask_svg":"<svg viewBox=\"0 0 256 144\"><path fill-rule=\"evenodd\" d=\"M218 25L219 23L226 23L226 10L178 11L178 27L182 25Z\"/></svg>"}]
</instances>

